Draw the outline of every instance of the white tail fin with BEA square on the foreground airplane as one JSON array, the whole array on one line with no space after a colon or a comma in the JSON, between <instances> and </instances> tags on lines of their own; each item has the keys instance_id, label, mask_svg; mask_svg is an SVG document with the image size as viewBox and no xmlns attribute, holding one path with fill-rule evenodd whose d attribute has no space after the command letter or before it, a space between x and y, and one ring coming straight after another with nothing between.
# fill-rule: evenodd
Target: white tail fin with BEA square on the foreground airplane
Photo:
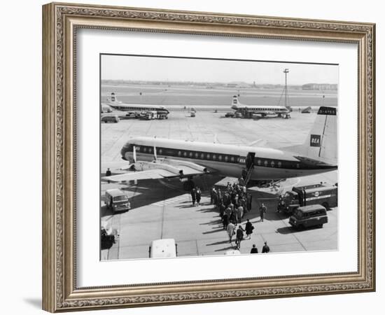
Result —
<instances>
[{"instance_id":1,"label":"white tail fin with BEA square on the foreground airplane","mask_svg":"<svg viewBox=\"0 0 385 315\"><path fill-rule=\"evenodd\" d=\"M304 144L295 152L304 157L337 165L337 109L321 106Z\"/></svg>"}]
</instances>

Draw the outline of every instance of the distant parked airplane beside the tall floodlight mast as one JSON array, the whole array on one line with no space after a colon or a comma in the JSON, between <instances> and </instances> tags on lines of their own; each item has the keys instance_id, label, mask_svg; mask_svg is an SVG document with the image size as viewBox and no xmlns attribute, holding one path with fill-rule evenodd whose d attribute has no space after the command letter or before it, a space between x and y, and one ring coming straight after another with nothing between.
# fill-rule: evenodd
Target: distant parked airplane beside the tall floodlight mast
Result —
<instances>
[{"instance_id":1,"label":"distant parked airplane beside the tall floodlight mast","mask_svg":"<svg viewBox=\"0 0 385 315\"><path fill-rule=\"evenodd\" d=\"M285 106L244 105L239 102L237 95L232 97L231 108L241 113L246 118L252 118L253 115L260 116L261 118L265 118L271 115L289 118L291 111L289 107Z\"/></svg>"}]
</instances>

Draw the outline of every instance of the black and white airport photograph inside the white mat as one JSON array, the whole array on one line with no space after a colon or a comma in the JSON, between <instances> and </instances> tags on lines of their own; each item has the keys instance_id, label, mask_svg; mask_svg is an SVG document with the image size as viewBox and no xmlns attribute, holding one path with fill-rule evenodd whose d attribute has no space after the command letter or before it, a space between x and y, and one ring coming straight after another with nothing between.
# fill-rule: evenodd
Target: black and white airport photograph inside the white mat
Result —
<instances>
[{"instance_id":1,"label":"black and white airport photograph inside the white mat","mask_svg":"<svg viewBox=\"0 0 385 315\"><path fill-rule=\"evenodd\" d=\"M100 55L101 260L337 251L338 73Z\"/></svg>"}]
</instances>

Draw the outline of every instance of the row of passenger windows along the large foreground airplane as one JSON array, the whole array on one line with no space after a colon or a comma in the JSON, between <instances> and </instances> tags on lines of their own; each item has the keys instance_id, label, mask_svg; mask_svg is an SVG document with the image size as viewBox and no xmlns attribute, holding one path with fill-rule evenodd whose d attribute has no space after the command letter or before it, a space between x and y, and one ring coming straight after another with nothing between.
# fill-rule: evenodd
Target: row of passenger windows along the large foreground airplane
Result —
<instances>
[{"instance_id":1,"label":"row of passenger windows along the large foreground airplane","mask_svg":"<svg viewBox=\"0 0 385 315\"><path fill-rule=\"evenodd\" d=\"M137 146L137 151L142 153L148 153L153 154L153 147L147 147L147 146ZM216 153L204 153L204 152L197 152L197 151L177 151L174 149L169 148L157 148L157 153L159 155L169 155L169 156L176 156L179 158L190 158L195 160L214 160L219 162L232 162L232 163L239 163L239 162L245 162L244 158L239 157L238 155L223 155L223 154L216 154ZM286 167L286 168L300 168L300 163L296 163L295 165L290 163L290 165L282 165L281 161L277 160L271 160L271 159L255 159L255 165L262 166L262 167Z\"/></svg>"}]
</instances>

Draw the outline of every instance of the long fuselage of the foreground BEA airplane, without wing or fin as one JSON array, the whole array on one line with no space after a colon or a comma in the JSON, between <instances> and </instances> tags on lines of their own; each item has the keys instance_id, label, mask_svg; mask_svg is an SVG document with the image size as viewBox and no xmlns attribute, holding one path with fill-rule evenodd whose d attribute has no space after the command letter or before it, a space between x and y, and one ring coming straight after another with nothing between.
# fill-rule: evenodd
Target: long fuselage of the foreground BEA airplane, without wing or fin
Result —
<instances>
[{"instance_id":1,"label":"long fuselage of the foreground BEA airplane, without wing or fin","mask_svg":"<svg viewBox=\"0 0 385 315\"><path fill-rule=\"evenodd\" d=\"M158 158L186 160L214 169L223 176L239 178L246 167L246 159L253 156L251 180L288 179L329 172L337 169L320 161L297 156L295 153L271 148L210 144L205 142L156 139L149 137L133 138L123 146L122 158L132 162L133 148L137 160L151 162L154 148Z\"/></svg>"}]
</instances>

